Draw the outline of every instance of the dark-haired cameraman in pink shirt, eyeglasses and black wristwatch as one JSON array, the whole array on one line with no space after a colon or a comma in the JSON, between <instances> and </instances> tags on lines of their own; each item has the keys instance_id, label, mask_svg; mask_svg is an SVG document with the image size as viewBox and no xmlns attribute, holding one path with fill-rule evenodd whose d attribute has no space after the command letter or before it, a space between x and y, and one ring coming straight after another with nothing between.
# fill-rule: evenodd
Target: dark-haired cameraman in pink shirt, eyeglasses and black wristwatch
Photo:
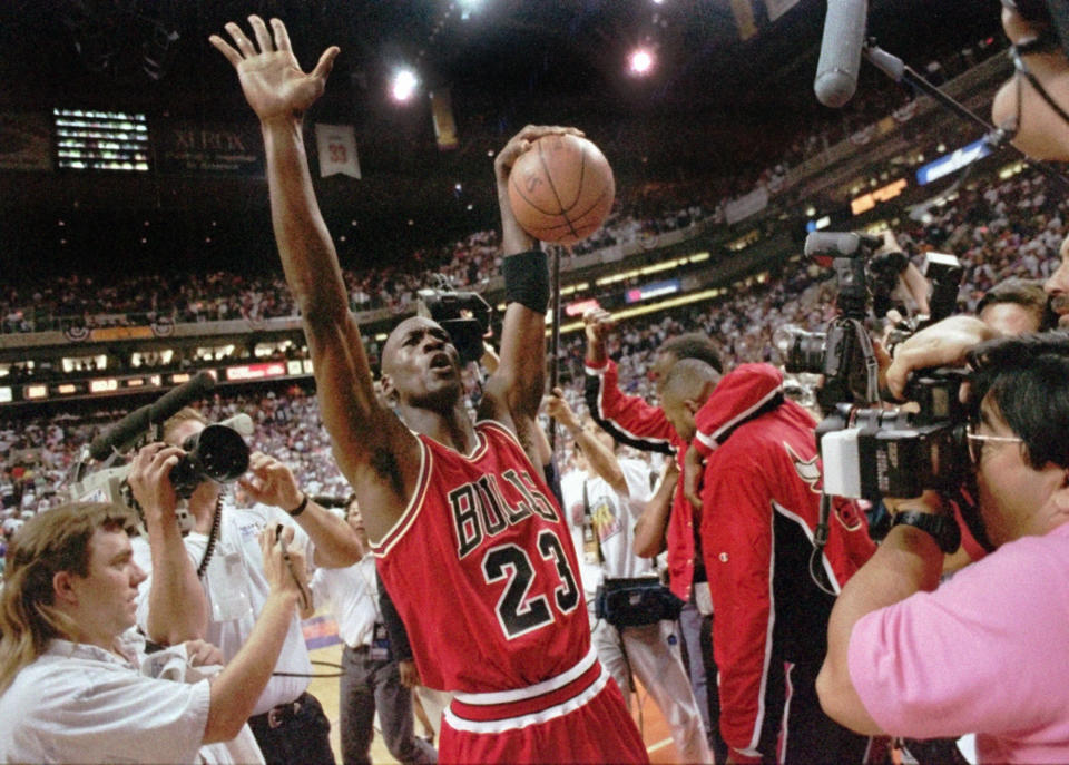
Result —
<instances>
[{"instance_id":1,"label":"dark-haired cameraman in pink shirt, eyeglasses and black wristwatch","mask_svg":"<svg viewBox=\"0 0 1069 765\"><path fill-rule=\"evenodd\" d=\"M843 588L817 677L864 734L977 734L988 762L1069 762L1069 333L971 349L965 432L991 552L940 585L958 526L939 496L896 519Z\"/></svg>"}]
</instances>

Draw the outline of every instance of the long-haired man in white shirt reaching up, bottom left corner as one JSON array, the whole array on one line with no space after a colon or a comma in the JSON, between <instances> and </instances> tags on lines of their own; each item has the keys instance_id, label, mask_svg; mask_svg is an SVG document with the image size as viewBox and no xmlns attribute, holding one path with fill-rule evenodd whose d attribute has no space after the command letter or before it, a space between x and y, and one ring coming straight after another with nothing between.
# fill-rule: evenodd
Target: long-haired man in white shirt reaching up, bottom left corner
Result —
<instances>
[{"instance_id":1,"label":"long-haired man in white shirt reaching up, bottom left corner","mask_svg":"<svg viewBox=\"0 0 1069 765\"><path fill-rule=\"evenodd\" d=\"M129 629L145 580L128 539L134 523L121 506L77 502L16 534L0 608L0 761L233 762L228 752L262 762L245 719L300 598L287 567L303 558L274 532L259 534L267 597L248 640L209 681L214 673L196 667L219 663L214 646L194 640L146 659ZM239 735L244 748L200 751Z\"/></svg>"}]
</instances>

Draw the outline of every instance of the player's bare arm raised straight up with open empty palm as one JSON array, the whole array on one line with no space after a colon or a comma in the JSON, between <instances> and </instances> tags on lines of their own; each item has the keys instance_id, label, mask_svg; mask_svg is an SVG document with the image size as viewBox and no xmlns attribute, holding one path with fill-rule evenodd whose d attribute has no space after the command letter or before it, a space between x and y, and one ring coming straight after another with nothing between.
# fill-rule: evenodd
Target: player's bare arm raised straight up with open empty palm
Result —
<instances>
[{"instance_id":1,"label":"player's bare arm raised straight up with open empty palm","mask_svg":"<svg viewBox=\"0 0 1069 765\"><path fill-rule=\"evenodd\" d=\"M248 105L259 117L267 156L271 217L286 282L301 310L315 367L323 422L339 468L353 484L372 539L388 530L415 482L418 442L375 396L360 327L349 311L337 253L308 171L302 117L323 94L339 53L327 48L302 71L286 28L249 17L255 43L236 23L210 42L234 65Z\"/></svg>"}]
</instances>

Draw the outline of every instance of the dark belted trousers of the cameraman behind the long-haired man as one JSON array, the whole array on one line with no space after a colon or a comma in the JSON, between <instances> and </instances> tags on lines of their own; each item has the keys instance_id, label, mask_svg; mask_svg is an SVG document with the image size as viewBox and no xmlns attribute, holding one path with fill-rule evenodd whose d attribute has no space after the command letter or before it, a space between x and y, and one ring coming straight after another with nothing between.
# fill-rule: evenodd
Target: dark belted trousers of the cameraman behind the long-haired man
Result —
<instances>
[{"instance_id":1,"label":"dark belted trousers of the cameraman behind the long-haired man","mask_svg":"<svg viewBox=\"0 0 1069 765\"><path fill-rule=\"evenodd\" d=\"M320 700L301 694L291 705L248 718L267 765L335 765L331 720Z\"/></svg>"}]
</instances>

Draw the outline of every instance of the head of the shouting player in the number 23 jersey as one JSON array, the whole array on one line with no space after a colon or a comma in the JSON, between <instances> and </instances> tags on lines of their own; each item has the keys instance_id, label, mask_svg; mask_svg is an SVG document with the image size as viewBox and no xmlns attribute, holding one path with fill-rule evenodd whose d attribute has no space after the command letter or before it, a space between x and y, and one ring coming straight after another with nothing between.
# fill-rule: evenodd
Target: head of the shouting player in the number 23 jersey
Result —
<instances>
[{"instance_id":1,"label":"head of the shouting player in the number 23 jersey","mask_svg":"<svg viewBox=\"0 0 1069 765\"><path fill-rule=\"evenodd\" d=\"M383 384L401 403L426 409L452 406L463 385L460 357L449 333L422 316L403 321L382 352Z\"/></svg>"}]
</instances>

